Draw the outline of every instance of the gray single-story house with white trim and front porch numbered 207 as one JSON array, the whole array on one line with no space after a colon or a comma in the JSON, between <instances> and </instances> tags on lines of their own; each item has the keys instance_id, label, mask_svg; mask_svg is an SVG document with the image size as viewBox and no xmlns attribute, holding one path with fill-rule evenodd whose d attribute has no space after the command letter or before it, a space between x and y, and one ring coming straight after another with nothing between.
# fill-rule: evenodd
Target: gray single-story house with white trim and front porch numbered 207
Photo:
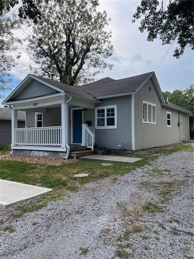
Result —
<instances>
[{"instance_id":1,"label":"gray single-story house with white trim and front porch numbered 207","mask_svg":"<svg viewBox=\"0 0 194 259\"><path fill-rule=\"evenodd\" d=\"M70 144L115 152L122 143L127 151L189 140L190 111L164 100L154 72L83 86L29 74L4 104L13 107L14 154L67 158ZM18 110L26 111L24 129Z\"/></svg>"}]
</instances>

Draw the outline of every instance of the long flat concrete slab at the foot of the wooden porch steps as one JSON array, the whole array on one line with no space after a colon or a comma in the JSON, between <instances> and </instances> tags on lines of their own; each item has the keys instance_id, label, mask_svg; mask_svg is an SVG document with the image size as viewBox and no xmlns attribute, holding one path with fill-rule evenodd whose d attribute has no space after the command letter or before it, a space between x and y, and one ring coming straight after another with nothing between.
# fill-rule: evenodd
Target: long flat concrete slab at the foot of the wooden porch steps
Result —
<instances>
[{"instance_id":1,"label":"long flat concrete slab at the foot of the wooden porch steps","mask_svg":"<svg viewBox=\"0 0 194 259\"><path fill-rule=\"evenodd\" d=\"M104 161L124 162L124 163L134 163L142 159L138 157L127 157L127 156L119 156L119 155L85 155L85 156L80 156L79 159L80 158L83 160L104 160Z\"/></svg>"}]
</instances>

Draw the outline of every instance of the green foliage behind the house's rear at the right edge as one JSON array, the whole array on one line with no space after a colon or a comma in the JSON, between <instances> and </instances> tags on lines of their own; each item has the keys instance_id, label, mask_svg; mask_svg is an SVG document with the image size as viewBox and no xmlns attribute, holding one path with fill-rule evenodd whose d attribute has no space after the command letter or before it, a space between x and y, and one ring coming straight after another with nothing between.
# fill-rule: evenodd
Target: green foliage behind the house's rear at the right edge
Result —
<instances>
[{"instance_id":1,"label":"green foliage behind the house's rear at the right edge","mask_svg":"<svg viewBox=\"0 0 194 259\"><path fill-rule=\"evenodd\" d=\"M190 138L194 138L194 85L189 86L185 90L174 90L163 92L164 99L168 98L170 103L176 104L192 112L189 117Z\"/></svg>"}]
</instances>

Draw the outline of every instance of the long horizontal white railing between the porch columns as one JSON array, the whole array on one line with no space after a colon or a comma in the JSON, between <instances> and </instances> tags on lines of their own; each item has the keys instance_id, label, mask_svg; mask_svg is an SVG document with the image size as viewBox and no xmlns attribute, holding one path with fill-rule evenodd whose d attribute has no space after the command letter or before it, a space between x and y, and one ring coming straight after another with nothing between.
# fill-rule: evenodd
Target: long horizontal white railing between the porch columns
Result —
<instances>
[{"instance_id":1,"label":"long horizontal white railing between the porch columns","mask_svg":"<svg viewBox=\"0 0 194 259\"><path fill-rule=\"evenodd\" d=\"M61 146L61 143L62 126L15 129L15 145Z\"/></svg>"}]
</instances>

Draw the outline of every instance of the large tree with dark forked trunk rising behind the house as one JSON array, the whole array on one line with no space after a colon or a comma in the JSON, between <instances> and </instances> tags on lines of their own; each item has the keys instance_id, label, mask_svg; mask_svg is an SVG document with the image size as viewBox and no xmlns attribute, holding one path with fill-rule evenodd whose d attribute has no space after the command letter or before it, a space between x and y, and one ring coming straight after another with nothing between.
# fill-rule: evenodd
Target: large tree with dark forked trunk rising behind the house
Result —
<instances>
[{"instance_id":1,"label":"large tree with dark forked trunk rising behind the house","mask_svg":"<svg viewBox=\"0 0 194 259\"><path fill-rule=\"evenodd\" d=\"M106 12L97 12L89 0L53 0L42 4L41 13L37 24L29 21L27 38L36 74L78 85L112 68L105 62L113 52Z\"/></svg>"}]
</instances>

